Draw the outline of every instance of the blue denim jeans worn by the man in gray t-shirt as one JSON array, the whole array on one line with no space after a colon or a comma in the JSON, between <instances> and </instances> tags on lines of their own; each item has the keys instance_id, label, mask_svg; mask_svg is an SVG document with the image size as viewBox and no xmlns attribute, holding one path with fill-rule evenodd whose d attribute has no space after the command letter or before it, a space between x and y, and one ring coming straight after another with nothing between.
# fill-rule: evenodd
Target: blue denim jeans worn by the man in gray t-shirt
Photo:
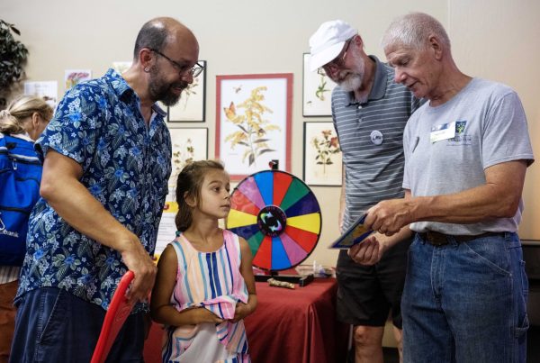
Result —
<instances>
[{"instance_id":1,"label":"blue denim jeans worn by the man in gray t-shirt","mask_svg":"<svg viewBox=\"0 0 540 363\"><path fill-rule=\"evenodd\" d=\"M527 295L516 233L441 247L417 234L401 300L404 362L525 362Z\"/></svg>"}]
</instances>

